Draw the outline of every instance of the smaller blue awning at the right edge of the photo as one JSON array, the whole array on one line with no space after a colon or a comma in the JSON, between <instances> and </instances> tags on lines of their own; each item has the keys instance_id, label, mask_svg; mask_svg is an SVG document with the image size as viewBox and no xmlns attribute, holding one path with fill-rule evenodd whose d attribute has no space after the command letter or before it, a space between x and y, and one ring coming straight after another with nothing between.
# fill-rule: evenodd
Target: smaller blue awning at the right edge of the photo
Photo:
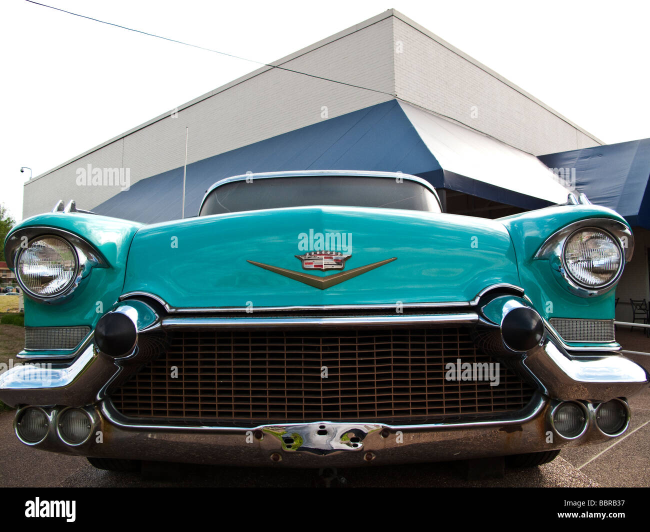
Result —
<instances>
[{"instance_id":1,"label":"smaller blue awning at the right edge of the photo","mask_svg":"<svg viewBox=\"0 0 650 532\"><path fill-rule=\"evenodd\" d=\"M550 153L539 160L591 203L650 229L650 139Z\"/></svg>"}]
</instances>

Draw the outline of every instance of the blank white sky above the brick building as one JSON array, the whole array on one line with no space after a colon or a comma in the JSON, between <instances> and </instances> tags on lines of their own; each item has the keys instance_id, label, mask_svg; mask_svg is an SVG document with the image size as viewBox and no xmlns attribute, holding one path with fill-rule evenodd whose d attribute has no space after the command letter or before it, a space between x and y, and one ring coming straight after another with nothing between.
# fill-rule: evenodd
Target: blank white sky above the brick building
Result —
<instances>
[{"instance_id":1,"label":"blank white sky above the brick building","mask_svg":"<svg viewBox=\"0 0 650 532\"><path fill-rule=\"evenodd\" d=\"M271 62L395 8L606 143L650 137L643 0L42 0ZM23 182L257 65L84 20L0 3L0 202ZM52 198L52 204L59 198Z\"/></svg>"}]
</instances>

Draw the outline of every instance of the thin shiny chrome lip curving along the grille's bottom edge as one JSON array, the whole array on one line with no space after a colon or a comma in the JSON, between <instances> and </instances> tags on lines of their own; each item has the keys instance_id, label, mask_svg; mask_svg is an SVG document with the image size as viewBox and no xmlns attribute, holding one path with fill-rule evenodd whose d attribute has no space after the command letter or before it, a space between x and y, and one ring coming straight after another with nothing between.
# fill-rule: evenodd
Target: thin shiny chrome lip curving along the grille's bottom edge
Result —
<instances>
[{"instance_id":1,"label":"thin shiny chrome lip curving along the grille's bottom edge","mask_svg":"<svg viewBox=\"0 0 650 532\"><path fill-rule=\"evenodd\" d=\"M426 425L388 425L387 423L378 423L376 421L350 421L352 423L365 423L369 425L377 425L378 427L391 429L396 431L417 431L417 430L430 430L430 429L469 429L473 427L494 427L503 425L519 425L530 421L535 418L546 405L546 399L541 393L536 393L537 402L531 401L529 408L526 408L526 413L521 418L514 418L509 420L495 419L488 421L465 421L461 423L428 423ZM530 408L532 410L528 411ZM296 425L313 425L314 423L322 423L323 425L341 425L347 421L310 421L309 423L268 423L266 425L258 425L257 427L209 427L205 425L146 425L140 423L127 423L118 419L118 412L114 409L112 403L109 401L101 402L101 413L107 418L110 423L123 427L125 429L144 429L149 431L205 431L205 432L246 432L264 430L270 427L281 427L284 425L294 427Z\"/></svg>"}]
</instances>

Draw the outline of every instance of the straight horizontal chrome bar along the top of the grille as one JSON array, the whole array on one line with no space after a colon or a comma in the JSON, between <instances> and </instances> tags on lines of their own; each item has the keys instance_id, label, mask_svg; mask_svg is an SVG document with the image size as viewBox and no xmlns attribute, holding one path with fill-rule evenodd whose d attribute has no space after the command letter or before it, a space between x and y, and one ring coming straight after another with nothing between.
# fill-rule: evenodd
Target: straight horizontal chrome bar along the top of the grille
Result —
<instances>
[{"instance_id":1,"label":"straight horizontal chrome bar along the top of the grille","mask_svg":"<svg viewBox=\"0 0 650 532\"><path fill-rule=\"evenodd\" d=\"M336 327L336 326L376 326L376 325L428 325L439 323L476 323L478 314L473 312L458 314L395 315L395 316L341 316L341 317L301 317L301 318L163 318L163 328L179 327Z\"/></svg>"}]
</instances>

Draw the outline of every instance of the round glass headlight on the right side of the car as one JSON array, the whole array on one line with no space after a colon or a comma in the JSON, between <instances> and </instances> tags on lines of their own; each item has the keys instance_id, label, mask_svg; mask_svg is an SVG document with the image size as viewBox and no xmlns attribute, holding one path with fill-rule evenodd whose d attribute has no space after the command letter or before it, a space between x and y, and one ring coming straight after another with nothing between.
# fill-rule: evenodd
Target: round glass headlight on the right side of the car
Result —
<instances>
[{"instance_id":1,"label":"round glass headlight on the right side of the car","mask_svg":"<svg viewBox=\"0 0 650 532\"><path fill-rule=\"evenodd\" d=\"M612 235L601 229L585 228L567 238L564 264L580 286L603 288L617 279L623 268L623 254Z\"/></svg>"}]
</instances>

